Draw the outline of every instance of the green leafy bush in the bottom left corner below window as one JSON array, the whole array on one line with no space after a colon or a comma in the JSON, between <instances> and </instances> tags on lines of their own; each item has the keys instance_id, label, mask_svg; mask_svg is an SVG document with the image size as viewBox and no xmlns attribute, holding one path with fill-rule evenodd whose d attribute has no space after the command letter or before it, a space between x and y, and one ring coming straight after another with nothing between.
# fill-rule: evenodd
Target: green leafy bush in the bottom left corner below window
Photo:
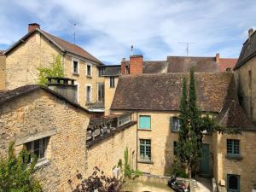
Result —
<instances>
[{"instance_id":1,"label":"green leafy bush in the bottom left corner below window","mask_svg":"<svg viewBox=\"0 0 256 192\"><path fill-rule=\"evenodd\" d=\"M0 192L41 192L38 181L32 179L37 156L22 150L16 157L14 145L10 143L8 157L0 159Z\"/></svg>"}]
</instances>

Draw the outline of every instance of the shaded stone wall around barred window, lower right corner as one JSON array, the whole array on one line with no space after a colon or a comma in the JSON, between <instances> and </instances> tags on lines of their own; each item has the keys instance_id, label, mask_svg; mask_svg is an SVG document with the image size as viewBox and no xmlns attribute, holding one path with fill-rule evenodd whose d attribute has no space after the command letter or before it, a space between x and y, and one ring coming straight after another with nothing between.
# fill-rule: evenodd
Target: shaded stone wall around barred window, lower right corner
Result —
<instances>
[{"instance_id":1,"label":"shaded stone wall around barred window, lower right corner","mask_svg":"<svg viewBox=\"0 0 256 192\"><path fill-rule=\"evenodd\" d=\"M256 143L255 131L242 131L241 135L221 135L218 134L218 183L227 184L227 174L240 176L240 191L252 191L253 184L256 183ZM241 160L229 159L227 154L227 139L240 140ZM224 182L223 182L224 181Z\"/></svg>"}]
</instances>

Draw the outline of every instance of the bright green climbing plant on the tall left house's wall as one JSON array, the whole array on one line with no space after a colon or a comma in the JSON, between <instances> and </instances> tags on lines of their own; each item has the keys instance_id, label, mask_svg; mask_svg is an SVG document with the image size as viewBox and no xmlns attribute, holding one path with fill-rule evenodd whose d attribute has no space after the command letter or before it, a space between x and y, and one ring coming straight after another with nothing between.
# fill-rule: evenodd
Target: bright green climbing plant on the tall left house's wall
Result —
<instances>
[{"instance_id":1,"label":"bright green climbing plant on the tall left house's wall","mask_svg":"<svg viewBox=\"0 0 256 192\"><path fill-rule=\"evenodd\" d=\"M50 67L42 67L38 68L39 71L39 79L38 84L46 86L47 85L47 77L64 77L64 70L61 62L61 55L54 55L53 62L50 64Z\"/></svg>"}]
</instances>

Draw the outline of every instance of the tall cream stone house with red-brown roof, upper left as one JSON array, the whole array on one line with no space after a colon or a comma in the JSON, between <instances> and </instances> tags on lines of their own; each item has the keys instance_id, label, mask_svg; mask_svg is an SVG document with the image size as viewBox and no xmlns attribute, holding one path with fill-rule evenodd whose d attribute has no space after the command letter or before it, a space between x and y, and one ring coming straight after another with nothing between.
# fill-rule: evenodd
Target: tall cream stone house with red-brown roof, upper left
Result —
<instances>
[{"instance_id":1,"label":"tall cream stone house with red-brown roof, upper left","mask_svg":"<svg viewBox=\"0 0 256 192\"><path fill-rule=\"evenodd\" d=\"M0 61L0 69L5 68L2 90L38 84L38 68L50 67L54 56L61 55L65 77L76 80L77 102L84 108L102 102L98 96L98 89L102 89L98 84L104 83L98 70L102 61L79 46L44 32L38 24L29 24L28 33L3 54L6 61L5 65Z\"/></svg>"}]
</instances>

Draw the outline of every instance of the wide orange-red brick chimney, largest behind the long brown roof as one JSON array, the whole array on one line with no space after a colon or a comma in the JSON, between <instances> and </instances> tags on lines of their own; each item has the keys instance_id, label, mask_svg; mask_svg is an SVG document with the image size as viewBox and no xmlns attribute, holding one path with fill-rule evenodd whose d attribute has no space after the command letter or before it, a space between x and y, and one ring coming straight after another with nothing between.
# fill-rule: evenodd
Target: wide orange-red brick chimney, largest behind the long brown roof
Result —
<instances>
[{"instance_id":1,"label":"wide orange-red brick chimney, largest behind the long brown roof","mask_svg":"<svg viewBox=\"0 0 256 192\"><path fill-rule=\"evenodd\" d=\"M143 73L143 55L130 56L130 74Z\"/></svg>"}]
</instances>

